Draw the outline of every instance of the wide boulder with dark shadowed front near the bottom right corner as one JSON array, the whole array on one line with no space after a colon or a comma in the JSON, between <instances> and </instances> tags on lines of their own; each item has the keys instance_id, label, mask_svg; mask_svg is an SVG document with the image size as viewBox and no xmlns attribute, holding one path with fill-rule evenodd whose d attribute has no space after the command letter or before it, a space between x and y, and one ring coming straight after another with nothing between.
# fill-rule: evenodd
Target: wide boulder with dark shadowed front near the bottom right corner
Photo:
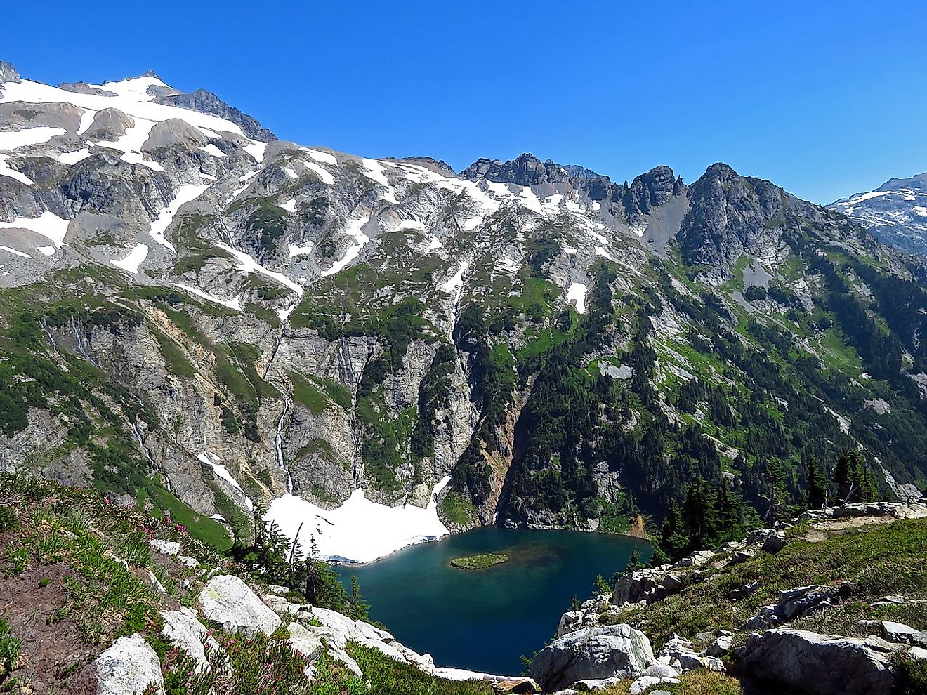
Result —
<instances>
[{"instance_id":1,"label":"wide boulder with dark shadowed front near the bottom right corner","mask_svg":"<svg viewBox=\"0 0 927 695\"><path fill-rule=\"evenodd\" d=\"M805 630L767 630L747 639L737 673L818 695L874 695L895 687L893 648L881 638L844 638Z\"/></svg>"}]
</instances>

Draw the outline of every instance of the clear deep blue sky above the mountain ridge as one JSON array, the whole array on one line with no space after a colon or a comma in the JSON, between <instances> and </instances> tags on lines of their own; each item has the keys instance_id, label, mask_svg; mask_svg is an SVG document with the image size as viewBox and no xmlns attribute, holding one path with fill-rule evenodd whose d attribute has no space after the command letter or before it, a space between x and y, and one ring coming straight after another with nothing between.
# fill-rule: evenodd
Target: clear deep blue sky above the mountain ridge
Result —
<instances>
[{"instance_id":1,"label":"clear deep blue sky above the mountain ridge","mask_svg":"<svg viewBox=\"0 0 927 695\"><path fill-rule=\"evenodd\" d=\"M827 203L927 171L927 4L12 2L43 82L154 69L280 137L455 169L523 151L631 179L715 161Z\"/></svg>"}]
</instances>

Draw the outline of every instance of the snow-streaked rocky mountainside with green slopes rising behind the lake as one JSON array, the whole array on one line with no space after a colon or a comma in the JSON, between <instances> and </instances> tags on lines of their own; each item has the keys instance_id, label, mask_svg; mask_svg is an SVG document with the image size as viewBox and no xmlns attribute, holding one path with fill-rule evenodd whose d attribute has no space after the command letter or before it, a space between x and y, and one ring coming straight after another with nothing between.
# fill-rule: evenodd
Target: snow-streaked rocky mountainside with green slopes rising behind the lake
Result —
<instances>
[{"instance_id":1,"label":"snow-streaked rocky mountainside with green slopes rising behind the lake","mask_svg":"<svg viewBox=\"0 0 927 695\"><path fill-rule=\"evenodd\" d=\"M621 530L727 474L763 512L769 452L794 499L857 447L886 494L922 485L921 266L773 183L458 176L152 74L3 74L3 470L230 527L298 498L318 533L359 490L444 529Z\"/></svg>"}]
</instances>

